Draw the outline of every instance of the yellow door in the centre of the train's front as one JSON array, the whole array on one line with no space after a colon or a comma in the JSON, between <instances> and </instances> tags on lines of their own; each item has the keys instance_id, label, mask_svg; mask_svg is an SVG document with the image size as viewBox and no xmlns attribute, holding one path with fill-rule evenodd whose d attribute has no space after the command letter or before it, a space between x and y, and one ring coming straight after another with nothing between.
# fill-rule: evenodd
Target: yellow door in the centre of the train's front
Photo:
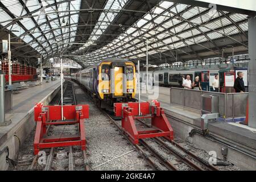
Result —
<instances>
[{"instance_id":1,"label":"yellow door in the centre of the train's front","mask_svg":"<svg viewBox=\"0 0 256 182\"><path fill-rule=\"evenodd\" d=\"M123 67L114 67L114 96L123 96Z\"/></svg>"}]
</instances>

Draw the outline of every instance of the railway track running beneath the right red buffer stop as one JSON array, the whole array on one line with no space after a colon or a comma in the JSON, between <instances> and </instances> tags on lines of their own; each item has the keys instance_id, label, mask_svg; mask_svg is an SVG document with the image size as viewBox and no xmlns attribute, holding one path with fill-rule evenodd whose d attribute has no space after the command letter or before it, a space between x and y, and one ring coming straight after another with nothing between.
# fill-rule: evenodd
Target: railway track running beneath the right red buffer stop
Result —
<instances>
[{"instance_id":1,"label":"railway track running beneath the right red buffer stop","mask_svg":"<svg viewBox=\"0 0 256 182\"><path fill-rule=\"evenodd\" d=\"M123 132L121 126L119 126L117 123L120 121L116 121L110 114L106 112L105 114L110 118L111 122L115 127L117 127L119 132L122 133L123 137L125 137L136 148L139 154L145 160L147 160L148 163L150 163L153 169L160 171L178 171L180 169L177 166L183 165L183 168L185 167L193 171L218 171L218 168L210 165L207 160L196 156L179 143L174 141L170 142L163 137L140 139L140 144L133 144L129 137L127 137L127 135ZM144 127L150 127L140 119L137 120ZM160 151L159 148L161 148L162 151ZM172 156L172 159L170 156Z\"/></svg>"}]
</instances>

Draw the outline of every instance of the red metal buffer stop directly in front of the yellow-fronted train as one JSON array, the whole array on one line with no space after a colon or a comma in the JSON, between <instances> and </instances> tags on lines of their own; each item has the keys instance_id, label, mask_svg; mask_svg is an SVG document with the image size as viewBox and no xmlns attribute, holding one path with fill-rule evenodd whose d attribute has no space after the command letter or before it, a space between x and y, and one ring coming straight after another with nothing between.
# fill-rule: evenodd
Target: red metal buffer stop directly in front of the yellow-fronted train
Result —
<instances>
[{"instance_id":1,"label":"red metal buffer stop directly in front of the yellow-fronted train","mask_svg":"<svg viewBox=\"0 0 256 182\"><path fill-rule=\"evenodd\" d=\"M139 115L139 103L115 103L114 104L115 116L122 116L122 129L129 135L129 138L134 144L139 143L139 139L166 137L169 140L174 139L174 131L164 110L160 107L160 103L141 102L141 114ZM139 128L135 125L136 119L151 118L150 128Z\"/></svg>"}]
</instances>

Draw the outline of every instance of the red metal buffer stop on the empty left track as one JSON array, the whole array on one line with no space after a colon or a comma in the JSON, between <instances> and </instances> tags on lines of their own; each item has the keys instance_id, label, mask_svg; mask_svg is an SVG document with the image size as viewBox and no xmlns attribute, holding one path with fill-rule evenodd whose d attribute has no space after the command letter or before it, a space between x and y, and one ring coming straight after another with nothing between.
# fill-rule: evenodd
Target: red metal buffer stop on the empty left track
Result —
<instances>
[{"instance_id":1,"label":"red metal buffer stop on the empty left track","mask_svg":"<svg viewBox=\"0 0 256 182\"><path fill-rule=\"evenodd\" d=\"M81 146L82 150L86 150L84 119L89 118L88 105L63 106L63 115L68 121L61 121L61 106L43 106L42 104L37 104L34 108L34 115L35 121L37 122L34 139L35 155L38 155L40 149L51 147ZM79 134L47 136L47 125L72 124L79 126Z\"/></svg>"}]
</instances>

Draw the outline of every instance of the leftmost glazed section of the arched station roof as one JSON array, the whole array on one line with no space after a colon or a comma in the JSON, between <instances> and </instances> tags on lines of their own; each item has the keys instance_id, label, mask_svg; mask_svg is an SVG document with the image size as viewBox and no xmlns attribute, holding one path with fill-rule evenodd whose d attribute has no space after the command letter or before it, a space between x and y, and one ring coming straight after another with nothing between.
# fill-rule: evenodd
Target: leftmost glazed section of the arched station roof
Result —
<instances>
[{"instance_id":1,"label":"leftmost glazed section of the arched station roof","mask_svg":"<svg viewBox=\"0 0 256 182\"><path fill-rule=\"evenodd\" d=\"M56 53L75 40L81 0L1 0L2 29L14 31L43 57ZM59 11L59 13L55 13ZM73 26L69 26L72 24ZM74 26L75 25L75 26ZM69 38L69 39L65 39Z\"/></svg>"}]
</instances>

